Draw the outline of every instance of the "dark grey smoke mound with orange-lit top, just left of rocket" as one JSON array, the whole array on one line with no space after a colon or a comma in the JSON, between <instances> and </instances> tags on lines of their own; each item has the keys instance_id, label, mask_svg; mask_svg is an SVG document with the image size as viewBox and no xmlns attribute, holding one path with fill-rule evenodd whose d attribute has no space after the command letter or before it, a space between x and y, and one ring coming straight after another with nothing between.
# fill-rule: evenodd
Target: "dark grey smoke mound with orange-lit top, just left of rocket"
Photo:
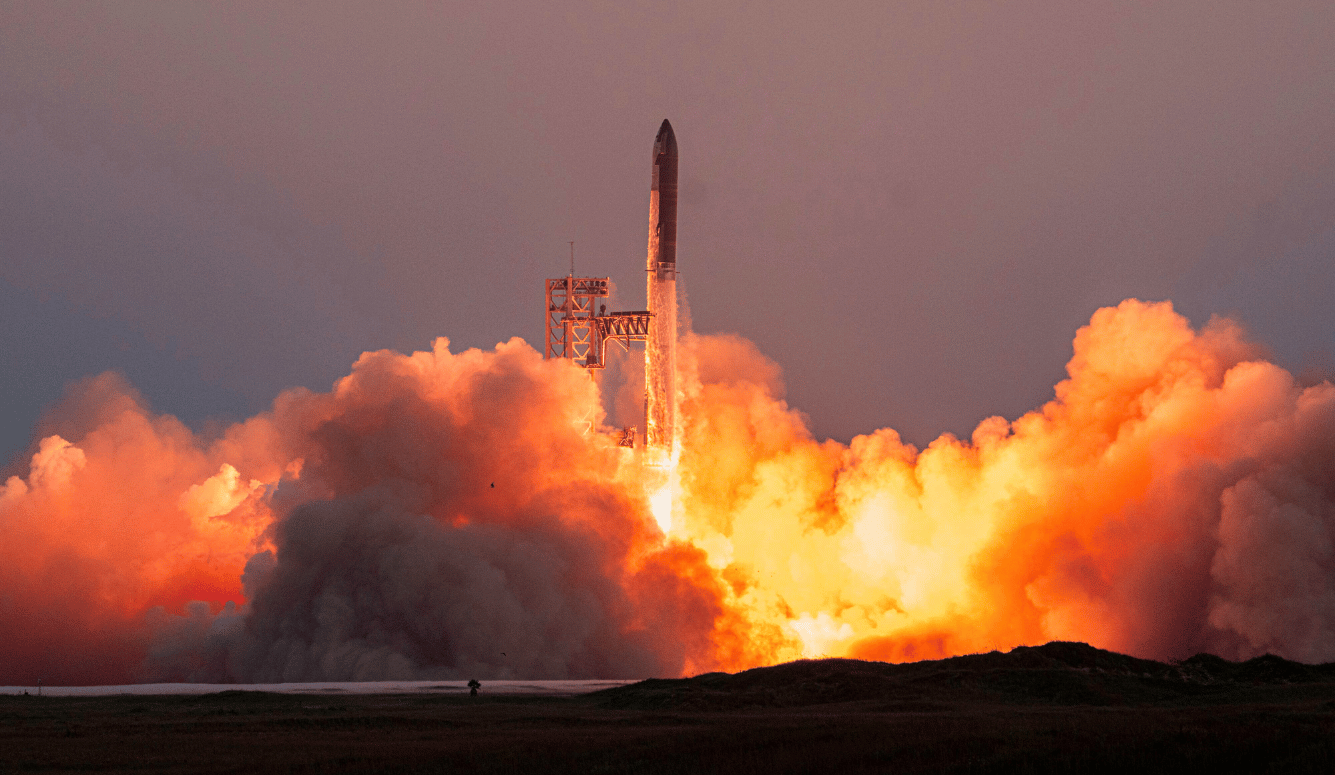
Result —
<instances>
[{"instance_id":1,"label":"dark grey smoke mound with orange-lit top, just left of rocket","mask_svg":"<svg viewBox=\"0 0 1335 775\"><path fill-rule=\"evenodd\" d=\"M434 359L374 353L332 394L279 402L304 463L272 496L275 551L247 564L244 611L158 612L150 675L643 678L708 659L712 576L569 422L587 376L522 344Z\"/></svg>"}]
</instances>

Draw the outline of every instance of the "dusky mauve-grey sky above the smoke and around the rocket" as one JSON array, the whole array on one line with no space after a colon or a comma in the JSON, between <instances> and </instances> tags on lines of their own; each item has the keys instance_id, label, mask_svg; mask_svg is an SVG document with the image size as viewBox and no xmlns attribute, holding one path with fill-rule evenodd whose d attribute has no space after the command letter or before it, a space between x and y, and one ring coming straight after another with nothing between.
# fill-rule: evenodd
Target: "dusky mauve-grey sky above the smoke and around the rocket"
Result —
<instances>
[{"instance_id":1,"label":"dusky mauve-grey sky above the smoke and around the rocket","mask_svg":"<svg viewBox=\"0 0 1335 775\"><path fill-rule=\"evenodd\" d=\"M1053 395L1127 297L1335 371L1328 3L0 3L0 463L116 369L196 430L363 351L643 308L681 149L693 328L818 438Z\"/></svg>"}]
</instances>

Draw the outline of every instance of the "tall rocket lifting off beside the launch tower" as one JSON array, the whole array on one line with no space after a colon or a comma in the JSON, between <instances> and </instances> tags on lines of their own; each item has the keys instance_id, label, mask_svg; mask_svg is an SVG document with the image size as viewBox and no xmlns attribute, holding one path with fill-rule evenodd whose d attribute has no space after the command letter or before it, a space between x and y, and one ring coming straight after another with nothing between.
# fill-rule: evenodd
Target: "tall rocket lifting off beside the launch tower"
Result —
<instances>
[{"instance_id":1,"label":"tall rocket lifting off beside the launch tower","mask_svg":"<svg viewBox=\"0 0 1335 775\"><path fill-rule=\"evenodd\" d=\"M663 119L649 185L645 447L672 455L677 427L677 136Z\"/></svg>"}]
</instances>

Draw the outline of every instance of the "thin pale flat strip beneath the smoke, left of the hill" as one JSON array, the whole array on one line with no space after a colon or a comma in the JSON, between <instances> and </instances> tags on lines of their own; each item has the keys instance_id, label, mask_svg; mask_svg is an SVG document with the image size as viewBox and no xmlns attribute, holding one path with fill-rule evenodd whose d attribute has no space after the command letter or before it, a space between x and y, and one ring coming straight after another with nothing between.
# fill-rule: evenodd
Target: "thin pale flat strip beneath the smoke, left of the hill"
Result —
<instances>
[{"instance_id":1,"label":"thin pale flat strip beneath the smoke, left of the hill","mask_svg":"<svg viewBox=\"0 0 1335 775\"><path fill-rule=\"evenodd\" d=\"M574 696L634 680L483 680L483 695ZM132 683L125 686L44 686L43 696L200 695L220 691L279 694L467 694L466 680L350 680L330 683ZM0 695L37 694L35 686L0 686Z\"/></svg>"}]
</instances>

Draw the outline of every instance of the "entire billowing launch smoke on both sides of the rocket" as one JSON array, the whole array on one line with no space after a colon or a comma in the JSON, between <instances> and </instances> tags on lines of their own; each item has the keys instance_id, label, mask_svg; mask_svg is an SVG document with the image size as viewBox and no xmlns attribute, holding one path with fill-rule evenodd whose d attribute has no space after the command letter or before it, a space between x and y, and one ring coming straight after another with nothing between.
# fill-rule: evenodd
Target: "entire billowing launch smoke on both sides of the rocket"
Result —
<instances>
[{"instance_id":1,"label":"entire billowing launch smoke on both sides of the rocket","mask_svg":"<svg viewBox=\"0 0 1335 775\"><path fill-rule=\"evenodd\" d=\"M519 340L366 353L210 438L76 385L0 494L0 682L1335 659L1335 387L1227 320L1100 309L1055 400L922 451L817 442L740 337L681 368L666 536L595 384Z\"/></svg>"}]
</instances>

